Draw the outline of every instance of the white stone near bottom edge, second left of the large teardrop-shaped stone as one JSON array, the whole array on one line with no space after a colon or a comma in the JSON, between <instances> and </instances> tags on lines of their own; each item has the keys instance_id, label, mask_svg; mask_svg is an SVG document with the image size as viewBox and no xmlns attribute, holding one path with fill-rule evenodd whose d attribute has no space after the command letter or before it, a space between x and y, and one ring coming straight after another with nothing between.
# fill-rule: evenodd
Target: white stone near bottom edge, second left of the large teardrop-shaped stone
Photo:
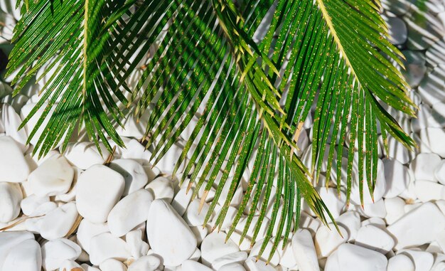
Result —
<instances>
[{"instance_id":1,"label":"white stone near bottom edge, second left of the large teardrop-shaped stone","mask_svg":"<svg viewBox=\"0 0 445 271\"><path fill-rule=\"evenodd\" d=\"M111 233L100 233L100 235L91 238L90 262L93 265L100 265L104 260L111 257L121 261L132 257L124 240L113 236Z\"/></svg>"}]
</instances>

